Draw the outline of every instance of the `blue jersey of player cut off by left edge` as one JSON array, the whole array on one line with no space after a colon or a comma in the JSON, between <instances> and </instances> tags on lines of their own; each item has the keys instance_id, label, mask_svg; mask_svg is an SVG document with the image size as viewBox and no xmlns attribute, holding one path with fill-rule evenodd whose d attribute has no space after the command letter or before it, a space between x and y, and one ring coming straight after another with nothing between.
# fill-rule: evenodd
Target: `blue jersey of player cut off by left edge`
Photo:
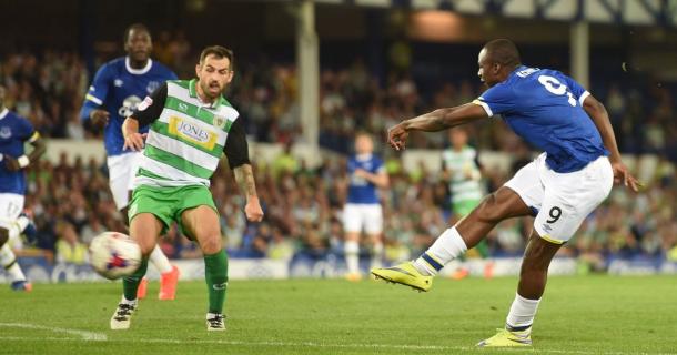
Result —
<instances>
[{"instance_id":1,"label":"blue jersey of player cut off by left edge","mask_svg":"<svg viewBox=\"0 0 677 355\"><path fill-rule=\"evenodd\" d=\"M26 173L23 169L9 171L4 156L18 159L24 154L23 144L39 136L33 125L24 118L4 109L0 112L0 193L26 194Z\"/></svg>"}]
</instances>

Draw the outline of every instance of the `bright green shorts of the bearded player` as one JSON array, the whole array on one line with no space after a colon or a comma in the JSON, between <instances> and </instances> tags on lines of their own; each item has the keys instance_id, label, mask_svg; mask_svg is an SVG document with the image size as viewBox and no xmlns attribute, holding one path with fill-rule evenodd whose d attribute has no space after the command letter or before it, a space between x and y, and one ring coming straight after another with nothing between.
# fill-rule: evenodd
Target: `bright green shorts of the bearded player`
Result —
<instances>
[{"instance_id":1,"label":"bright green shorts of the bearded player","mask_svg":"<svg viewBox=\"0 0 677 355\"><path fill-rule=\"evenodd\" d=\"M175 221L181 229L181 233L189 239L193 239L183 227L181 214L185 210L201 205L210 206L219 214L212 193L206 186L151 187L141 185L134 189L132 193L128 216L131 223L139 213L152 213L164 224L161 234L165 234L169 226Z\"/></svg>"}]
</instances>

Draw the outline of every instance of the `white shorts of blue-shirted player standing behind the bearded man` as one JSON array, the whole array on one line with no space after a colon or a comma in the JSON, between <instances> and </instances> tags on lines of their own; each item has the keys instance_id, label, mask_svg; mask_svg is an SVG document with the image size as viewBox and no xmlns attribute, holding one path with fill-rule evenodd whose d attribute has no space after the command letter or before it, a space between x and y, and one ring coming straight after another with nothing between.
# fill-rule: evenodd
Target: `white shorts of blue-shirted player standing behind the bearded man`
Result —
<instances>
[{"instance_id":1,"label":"white shorts of blue-shirted player standing behind the bearded man","mask_svg":"<svg viewBox=\"0 0 677 355\"><path fill-rule=\"evenodd\" d=\"M129 203L129 192L133 190L132 183L139 170L142 152L125 153L109 156L109 185L118 210L122 210Z\"/></svg>"}]
</instances>

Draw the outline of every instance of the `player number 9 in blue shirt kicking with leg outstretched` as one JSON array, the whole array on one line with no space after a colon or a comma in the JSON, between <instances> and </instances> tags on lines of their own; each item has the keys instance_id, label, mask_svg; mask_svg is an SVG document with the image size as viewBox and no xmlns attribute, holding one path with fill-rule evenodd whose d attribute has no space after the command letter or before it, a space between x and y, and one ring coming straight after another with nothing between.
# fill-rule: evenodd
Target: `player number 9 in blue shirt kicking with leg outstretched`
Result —
<instances>
[{"instance_id":1,"label":"player number 9 in blue shirt kicking with leg outstretched","mask_svg":"<svg viewBox=\"0 0 677 355\"><path fill-rule=\"evenodd\" d=\"M421 257L372 273L427 291L433 275L475 246L498 222L535 215L505 328L477 344L531 346L532 324L553 256L606 199L614 181L633 191L638 182L620 160L604 105L573 79L522 65L517 48L508 40L485 44L478 64L478 75L489 87L482 97L401 122L388 131L388 143L402 150L410 131L441 131L501 114L515 133L545 153L446 230Z\"/></svg>"}]
</instances>

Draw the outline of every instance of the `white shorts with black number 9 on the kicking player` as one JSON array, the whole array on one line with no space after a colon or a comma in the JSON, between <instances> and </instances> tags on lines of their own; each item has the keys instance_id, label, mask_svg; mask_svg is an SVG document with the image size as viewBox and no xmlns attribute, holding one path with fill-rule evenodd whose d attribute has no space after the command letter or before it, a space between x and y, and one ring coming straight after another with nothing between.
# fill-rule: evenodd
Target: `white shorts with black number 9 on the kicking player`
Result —
<instances>
[{"instance_id":1,"label":"white shorts with black number 9 on the kicking player","mask_svg":"<svg viewBox=\"0 0 677 355\"><path fill-rule=\"evenodd\" d=\"M534 229L549 242L567 242L609 194L614 172L608 158L599 156L579 171L557 173L546 153L519 169L505 186L515 191L535 213Z\"/></svg>"}]
</instances>

